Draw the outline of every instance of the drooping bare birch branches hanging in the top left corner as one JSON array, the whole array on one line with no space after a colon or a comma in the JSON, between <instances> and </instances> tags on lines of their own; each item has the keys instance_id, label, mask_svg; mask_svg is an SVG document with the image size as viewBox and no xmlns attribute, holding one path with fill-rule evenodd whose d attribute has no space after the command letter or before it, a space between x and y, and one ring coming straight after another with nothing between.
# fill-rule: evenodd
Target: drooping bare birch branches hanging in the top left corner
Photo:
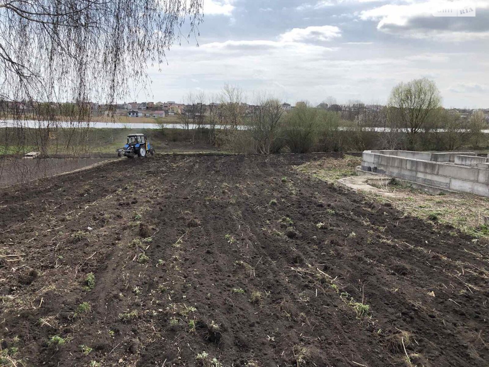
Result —
<instances>
[{"instance_id":1,"label":"drooping bare birch branches hanging in the top left corner","mask_svg":"<svg viewBox=\"0 0 489 367\"><path fill-rule=\"evenodd\" d=\"M89 121L94 100L111 114L130 86L147 83L148 63L198 35L201 10L202 0L0 0L0 118L14 130L25 119L75 125ZM74 107L60 111L66 101ZM36 134L45 150L49 134Z\"/></svg>"}]
</instances>

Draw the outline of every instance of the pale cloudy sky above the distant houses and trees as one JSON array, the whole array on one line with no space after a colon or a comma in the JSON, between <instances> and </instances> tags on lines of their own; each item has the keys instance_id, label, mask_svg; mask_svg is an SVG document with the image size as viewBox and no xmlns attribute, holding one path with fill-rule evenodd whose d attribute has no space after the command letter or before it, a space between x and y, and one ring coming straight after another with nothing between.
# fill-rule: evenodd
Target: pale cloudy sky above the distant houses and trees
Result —
<instances>
[{"instance_id":1,"label":"pale cloudy sky above the distant houses and trees","mask_svg":"<svg viewBox=\"0 0 489 367\"><path fill-rule=\"evenodd\" d=\"M249 103L258 91L385 103L400 81L428 77L445 107L489 108L489 0L440 1L204 0L198 40L174 46L149 69L148 97L133 96L181 101L227 82ZM466 5L475 17L433 16Z\"/></svg>"}]
</instances>

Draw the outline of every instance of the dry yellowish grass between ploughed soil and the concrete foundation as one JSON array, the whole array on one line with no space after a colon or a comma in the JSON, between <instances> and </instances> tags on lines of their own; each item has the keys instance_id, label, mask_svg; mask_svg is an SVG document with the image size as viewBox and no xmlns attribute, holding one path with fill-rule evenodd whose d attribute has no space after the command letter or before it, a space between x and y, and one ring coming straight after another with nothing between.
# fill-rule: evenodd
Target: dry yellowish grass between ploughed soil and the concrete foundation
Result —
<instances>
[{"instance_id":1,"label":"dry yellowish grass between ploughed soil and the concrete foundation","mask_svg":"<svg viewBox=\"0 0 489 367\"><path fill-rule=\"evenodd\" d=\"M323 181L335 182L342 177L355 175L355 167L360 162L360 158L346 155L343 159L325 158L308 162L297 169ZM363 194L373 201L391 203L408 215L423 220L437 218L440 224L449 224L469 235L489 239L489 229L484 226L483 219L489 215L489 198L466 193L432 195L395 184L382 188L396 193L396 197L385 197L372 192ZM456 231L453 235L457 235Z\"/></svg>"}]
</instances>

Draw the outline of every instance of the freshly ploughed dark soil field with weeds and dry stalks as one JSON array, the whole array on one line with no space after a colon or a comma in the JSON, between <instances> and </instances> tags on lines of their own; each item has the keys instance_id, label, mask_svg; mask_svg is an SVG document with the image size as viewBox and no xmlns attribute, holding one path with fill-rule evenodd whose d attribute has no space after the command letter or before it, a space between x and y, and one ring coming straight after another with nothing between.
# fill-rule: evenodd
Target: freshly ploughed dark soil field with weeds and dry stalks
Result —
<instances>
[{"instance_id":1,"label":"freshly ploughed dark soil field with weeds and dry stalks","mask_svg":"<svg viewBox=\"0 0 489 367\"><path fill-rule=\"evenodd\" d=\"M293 168L321 156L156 156L4 189L4 355L488 366L487 243Z\"/></svg>"}]
</instances>

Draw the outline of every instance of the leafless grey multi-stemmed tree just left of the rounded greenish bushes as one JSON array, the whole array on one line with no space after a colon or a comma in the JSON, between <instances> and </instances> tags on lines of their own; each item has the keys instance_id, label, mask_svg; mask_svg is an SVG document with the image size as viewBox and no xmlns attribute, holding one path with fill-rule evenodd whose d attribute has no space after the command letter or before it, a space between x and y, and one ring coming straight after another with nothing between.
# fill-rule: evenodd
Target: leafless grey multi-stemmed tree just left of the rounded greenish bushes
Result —
<instances>
[{"instance_id":1,"label":"leafless grey multi-stemmed tree just left of the rounded greenish bushes","mask_svg":"<svg viewBox=\"0 0 489 367\"><path fill-rule=\"evenodd\" d=\"M266 93L256 97L256 108L251 115L251 134L258 153L270 154L273 142L278 138L284 117L282 102Z\"/></svg>"}]
</instances>

